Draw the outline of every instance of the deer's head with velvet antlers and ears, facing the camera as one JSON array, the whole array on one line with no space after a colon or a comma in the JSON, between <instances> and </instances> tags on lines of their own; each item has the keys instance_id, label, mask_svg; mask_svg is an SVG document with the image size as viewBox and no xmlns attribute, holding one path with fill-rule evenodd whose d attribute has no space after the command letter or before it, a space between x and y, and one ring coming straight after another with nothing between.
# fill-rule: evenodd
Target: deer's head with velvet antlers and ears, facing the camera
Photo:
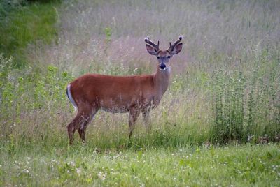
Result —
<instances>
[{"instance_id":1,"label":"deer's head with velvet antlers and ears, facing the camera","mask_svg":"<svg viewBox=\"0 0 280 187\"><path fill-rule=\"evenodd\" d=\"M169 43L168 50L160 50L160 41L158 41L158 44L155 44L148 36L145 38L145 42L147 43L146 49L148 53L155 55L158 58L158 62L160 63L158 67L160 70L167 70L170 67L170 59L173 57L173 55L181 52L183 45L181 40L182 36L180 36L179 40L176 40L174 44Z\"/></svg>"}]
</instances>

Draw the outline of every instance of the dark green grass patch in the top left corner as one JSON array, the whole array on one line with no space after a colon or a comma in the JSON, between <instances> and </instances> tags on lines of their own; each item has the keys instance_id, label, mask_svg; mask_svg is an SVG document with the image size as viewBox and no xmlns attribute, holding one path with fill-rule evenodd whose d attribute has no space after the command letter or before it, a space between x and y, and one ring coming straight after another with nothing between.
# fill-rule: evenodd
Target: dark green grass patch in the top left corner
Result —
<instances>
[{"instance_id":1,"label":"dark green grass patch in the top left corner","mask_svg":"<svg viewBox=\"0 0 280 187\"><path fill-rule=\"evenodd\" d=\"M6 57L15 57L15 66L25 66L26 48L28 45L50 44L57 36L57 6L56 1L50 3L26 3L23 6L6 5L10 8L2 13L0 20L0 52ZM39 44L38 44L39 43Z\"/></svg>"}]
</instances>

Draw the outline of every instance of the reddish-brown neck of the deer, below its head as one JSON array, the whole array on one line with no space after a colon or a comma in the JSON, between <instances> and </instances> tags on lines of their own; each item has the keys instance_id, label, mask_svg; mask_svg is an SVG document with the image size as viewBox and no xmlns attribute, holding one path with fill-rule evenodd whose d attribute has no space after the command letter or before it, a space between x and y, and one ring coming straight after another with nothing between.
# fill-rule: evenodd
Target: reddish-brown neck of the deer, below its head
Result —
<instances>
[{"instance_id":1,"label":"reddish-brown neck of the deer, below its head","mask_svg":"<svg viewBox=\"0 0 280 187\"><path fill-rule=\"evenodd\" d=\"M157 72L153 77L156 97L158 99L161 99L162 95L165 93L165 91L167 91L170 78L170 71L171 67L167 68L166 70L160 70L160 68L157 68Z\"/></svg>"}]
</instances>

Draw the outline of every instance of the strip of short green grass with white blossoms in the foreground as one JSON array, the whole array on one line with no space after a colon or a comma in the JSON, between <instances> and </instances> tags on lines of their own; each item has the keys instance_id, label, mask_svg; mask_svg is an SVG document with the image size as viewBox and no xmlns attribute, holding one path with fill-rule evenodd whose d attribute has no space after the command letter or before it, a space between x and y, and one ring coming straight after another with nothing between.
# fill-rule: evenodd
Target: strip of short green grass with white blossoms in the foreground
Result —
<instances>
[{"instance_id":1,"label":"strip of short green grass with white blossoms in the foreground","mask_svg":"<svg viewBox=\"0 0 280 187\"><path fill-rule=\"evenodd\" d=\"M279 186L279 144L107 149L1 147L1 186Z\"/></svg>"}]
</instances>

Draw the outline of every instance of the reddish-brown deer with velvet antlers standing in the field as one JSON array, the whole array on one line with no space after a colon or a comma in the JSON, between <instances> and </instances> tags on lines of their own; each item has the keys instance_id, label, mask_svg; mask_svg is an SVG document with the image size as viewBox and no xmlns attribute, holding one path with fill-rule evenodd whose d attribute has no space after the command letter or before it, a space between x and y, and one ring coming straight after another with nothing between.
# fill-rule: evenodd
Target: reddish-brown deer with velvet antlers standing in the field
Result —
<instances>
[{"instance_id":1,"label":"reddish-brown deer with velvet antlers standing in the field","mask_svg":"<svg viewBox=\"0 0 280 187\"><path fill-rule=\"evenodd\" d=\"M111 113L129 113L128 137L132 136L134 124L142 113L146 130L151 130L150 110L160 104L169 86L171 61L174 54L182 50L182 36L175 43L169 43L168 50L160 50L158 44L145 38L146 50L158 59L153 75L111 76L85 74L68 84L66 95L75 107L76 117L66 126L69 144L73 144L76 130L85 142L87 125L99 110Z\"/></svg>"}]
</instances>

